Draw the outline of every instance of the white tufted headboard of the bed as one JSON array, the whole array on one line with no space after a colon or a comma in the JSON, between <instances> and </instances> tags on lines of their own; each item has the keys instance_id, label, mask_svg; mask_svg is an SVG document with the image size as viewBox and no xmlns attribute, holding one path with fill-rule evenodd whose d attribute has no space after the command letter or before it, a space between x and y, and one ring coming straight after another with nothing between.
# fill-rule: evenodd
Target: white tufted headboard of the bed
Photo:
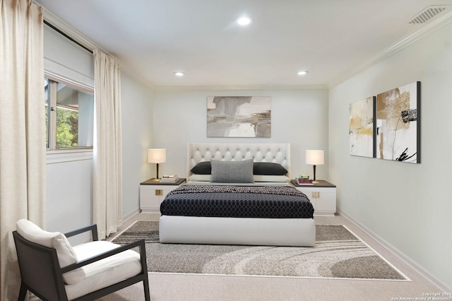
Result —
<instances>
[{"instance_id":1,"label":"white tufted headboard of the bed","mask_svg":"<svg viewBox=\"0 0 452 301\"><path fill-rule=\"evenodd\" d=\"M188 143L186 153L187 179L191 176L191 168L212 159L279 163L290 177L290 143Z\"/></svg>"}]
</instances>

